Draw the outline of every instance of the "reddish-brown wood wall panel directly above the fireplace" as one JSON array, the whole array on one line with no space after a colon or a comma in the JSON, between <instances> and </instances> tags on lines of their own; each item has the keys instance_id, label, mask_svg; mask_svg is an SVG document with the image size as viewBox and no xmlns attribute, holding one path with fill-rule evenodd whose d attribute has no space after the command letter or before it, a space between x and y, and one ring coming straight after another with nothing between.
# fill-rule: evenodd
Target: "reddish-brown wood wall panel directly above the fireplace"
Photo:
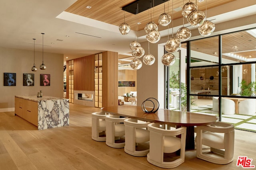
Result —
<instances>
[{"instance_id":1,"label":"reddish-brown wood wall panel directly above the fireplace","mask_svg":"<svg viewBox=\"0 0 256 170\"><path fill-rule=\"evenodd\" d=\"M74 90L94 91L94 55L74 59Z\"/></svg>"}]
</instances>

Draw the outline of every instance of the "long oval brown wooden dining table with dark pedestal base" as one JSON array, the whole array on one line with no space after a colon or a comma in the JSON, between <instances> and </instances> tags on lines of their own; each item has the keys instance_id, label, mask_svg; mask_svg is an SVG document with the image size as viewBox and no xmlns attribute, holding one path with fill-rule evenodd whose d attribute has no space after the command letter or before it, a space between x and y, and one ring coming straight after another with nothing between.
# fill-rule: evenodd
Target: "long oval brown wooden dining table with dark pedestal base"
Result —
<instances>
[{"instance_id":1,"label":"long oval brown wooden dining table with dark pedestal base","mask_svg":"<svg viewBox=\"0 0 256 170\"><path fill-rule=\"evenodd\" d=\"M148 108L148 110L151 109ZM106 113L142 121L176 125L176 128L186 126L186 149L194 149L194 126L211 125L218 120L216 116L212 115L168 109L158 109L156 113L145 113L140 106L130 105L104 107L102 110Z\"/></svg>"}]
</instances>

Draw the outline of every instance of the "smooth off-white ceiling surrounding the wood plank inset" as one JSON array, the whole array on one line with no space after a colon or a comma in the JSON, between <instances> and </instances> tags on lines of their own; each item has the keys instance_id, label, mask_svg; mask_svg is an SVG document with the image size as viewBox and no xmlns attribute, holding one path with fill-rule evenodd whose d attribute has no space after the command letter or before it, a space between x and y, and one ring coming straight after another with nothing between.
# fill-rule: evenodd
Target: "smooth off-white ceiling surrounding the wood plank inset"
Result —
<instances>
[{"instance_id":1,"label":"smooth off-white ceiling surrounding the wood plank inset","mask_svg":"<svg viewBox=\"0 0 256 170\"><path fill-rule=\"evenodd\" d=\"M64 54L67 60L102 51L130 52L134 31L121 35L116 25L64 12L74 2L76 0L1 0L0 47L33 50L35 38L36 51L42 51L41 33L45 33L44 52ZM255 15L255 9L256 0L236 0L218 10L216 7L207 11L207 16L208 20L215 19L213 22L217 24ZM226 13L222 14L222 11ZM180 21L175 23L176 28L182 24ZM252 23L256 23L256 18ZM221 29L216 30L216 33L221 32ZM139 32L140 42L145 41L144 32ZM167 35L166 30L160 33L161 37Z\"/></svg>"}]
</instances>

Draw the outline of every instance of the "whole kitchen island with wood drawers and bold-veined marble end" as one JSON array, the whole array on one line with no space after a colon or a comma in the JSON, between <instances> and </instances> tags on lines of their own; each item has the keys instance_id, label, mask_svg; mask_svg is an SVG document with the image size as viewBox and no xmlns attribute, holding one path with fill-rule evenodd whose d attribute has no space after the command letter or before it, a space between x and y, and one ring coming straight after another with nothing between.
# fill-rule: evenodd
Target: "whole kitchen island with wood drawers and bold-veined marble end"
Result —
<instances>
[{"instance_id":1,"label":"whole kitchen island with wood drawers and bold-veined marble end","mask_svg":"<svg viewBox=\"0 0 256 170\"><path fill-rule=\"evenodd\" d=\"M69 125L69 100L51 96L15 96L15 115L38 130Z\"/></svg>"}]
</instances>

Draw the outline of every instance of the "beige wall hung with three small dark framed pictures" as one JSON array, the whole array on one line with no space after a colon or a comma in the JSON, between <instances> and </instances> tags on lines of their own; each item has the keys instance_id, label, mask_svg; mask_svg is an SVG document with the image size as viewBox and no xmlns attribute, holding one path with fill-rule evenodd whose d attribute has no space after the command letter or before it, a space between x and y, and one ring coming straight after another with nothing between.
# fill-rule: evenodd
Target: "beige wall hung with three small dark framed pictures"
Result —
<instances>
[{"instance_id":1,"label":"beige wall hung with three small dark framed pictures","mask_svg":"<svg viewBox=\"0 0 256 170\"><path fill-rule=\"evenodd\" d=\"M44 53L46 70L40 70L42 52L0 47L0 112L14 111L15 95L36 95L42 90L43 96L63 98L63 55ZM4 72L16 73L16 86L4 86ZM34 86L23 86L23 73L34 74ZM50 86L40 86L40 74L50 74Z\"/></svg>"}]
</instances>

